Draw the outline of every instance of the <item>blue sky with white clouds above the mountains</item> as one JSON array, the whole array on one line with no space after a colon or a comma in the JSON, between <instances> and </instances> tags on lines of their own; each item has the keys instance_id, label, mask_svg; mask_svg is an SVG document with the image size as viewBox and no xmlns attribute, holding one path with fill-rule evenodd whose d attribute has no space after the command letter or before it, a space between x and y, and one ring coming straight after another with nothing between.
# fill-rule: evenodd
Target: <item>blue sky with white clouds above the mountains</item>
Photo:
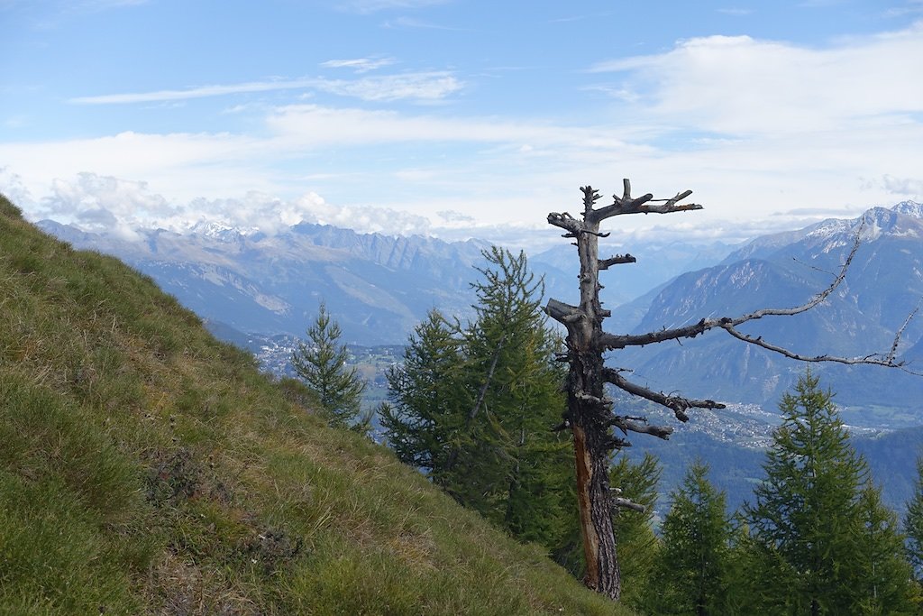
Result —
<instances>
[{"instance_id":1,"label":"blue sky with white clouds above the mountains","mask_svg":"<svg viewBox=\"0 0 923 616\"><path fill-rule=\"evenodd\" d=\"M923 200L923 0L0 0L0 192L128 238L740 241ZM557 241L563 241L557 238Z\"/></svg>"}]
</instances>

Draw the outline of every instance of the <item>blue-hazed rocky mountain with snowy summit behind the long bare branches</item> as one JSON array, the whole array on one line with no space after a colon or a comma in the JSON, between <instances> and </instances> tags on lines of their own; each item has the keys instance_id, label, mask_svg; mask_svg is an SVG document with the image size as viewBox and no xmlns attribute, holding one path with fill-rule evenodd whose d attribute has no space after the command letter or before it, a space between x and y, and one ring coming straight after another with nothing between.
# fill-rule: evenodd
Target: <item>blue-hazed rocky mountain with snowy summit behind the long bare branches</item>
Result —
<instances>
[{"instance_id":1,"label":"blue-hazed rocky mountain with snowy summit behind the long bare branches","mask_svg":"<svg viewBox=\"0 0 923 616\"><path fill-rule=\"evenodd\" d=\"M720 264L665 285L634 331L804 304L833 281L858 234L861 245L833 295L801 315L752 321L746 331L803 355L887 352L895 332L923 299L921 210L906 201L892 209L873 208L855 220L828 220L757 238ZM897 351L911 362L923 359L923 318L906 324ZM612 361L632 368L635 380L657 389L768 407L805 369L802 362L720 331L682 344L632 349ZM847 418L871 421L888 407L912 409L923 394L923 378L899 370L837 364L812 369L845 409L861 409ZM917 361L916 369L923 371L923 364Z\"/></svg>"}]
</instances>

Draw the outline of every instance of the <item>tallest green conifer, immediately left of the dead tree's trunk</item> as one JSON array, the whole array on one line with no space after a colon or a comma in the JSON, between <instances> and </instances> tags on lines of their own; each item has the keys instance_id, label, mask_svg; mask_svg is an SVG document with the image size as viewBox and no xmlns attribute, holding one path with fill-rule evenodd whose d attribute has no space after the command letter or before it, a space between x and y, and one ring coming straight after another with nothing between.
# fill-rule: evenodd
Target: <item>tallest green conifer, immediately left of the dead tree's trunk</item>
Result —
<instances>
[{"instance_id":1,"label":"tallest green conifer, immediately left of the dead tree's trunk","mask_svg":"<svg viewBox=\"0 0 923 616\"><path fill-rule=\"evenodd\" d=\"M569 443L550 431L564 410L557 337L524 253L494 247L484 256L472 284L476 318L463 332L473 403L453 442L450 491L516 536L544 542L557 534L556 488L566 494L569 483Z\"/></svg>"}]
</instances>

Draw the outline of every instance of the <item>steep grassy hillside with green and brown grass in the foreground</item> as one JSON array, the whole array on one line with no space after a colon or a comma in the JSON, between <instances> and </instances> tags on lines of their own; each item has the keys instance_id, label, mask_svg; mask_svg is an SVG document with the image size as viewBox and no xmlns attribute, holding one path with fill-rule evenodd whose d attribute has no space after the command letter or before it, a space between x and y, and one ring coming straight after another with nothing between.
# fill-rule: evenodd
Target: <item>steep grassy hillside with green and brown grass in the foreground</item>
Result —
<instances>
[{"instance_id":1,"label":"steep grassy hillside with green and brown grass in the foreground","mask_svg":"<svg viewBox=\"0 0 923 616\"><path fill-rule=\"evenodd\" d=\"M0 197L0 613L621 613Z\"/></svg>"}]
</instances>

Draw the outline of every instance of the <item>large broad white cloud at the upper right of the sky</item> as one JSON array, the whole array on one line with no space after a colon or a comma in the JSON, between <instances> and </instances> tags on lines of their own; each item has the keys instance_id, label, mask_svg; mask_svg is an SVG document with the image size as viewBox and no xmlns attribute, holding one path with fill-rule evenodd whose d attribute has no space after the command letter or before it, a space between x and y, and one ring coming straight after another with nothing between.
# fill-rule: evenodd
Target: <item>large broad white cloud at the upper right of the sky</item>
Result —
<instances>
[{"instance_id":1,"label":"large broad white cloud at the upper right of the sky","mask_svg":"<svg viewBox=\"0 0 923 616\"><path fill-rule=\"evenodd\" d=\"M923 22L824 49L749 36L678 42L665 53L599 63L634 110L670 127L777 135L867 127L923 111Z\"/></svg>"}]
</instances>

